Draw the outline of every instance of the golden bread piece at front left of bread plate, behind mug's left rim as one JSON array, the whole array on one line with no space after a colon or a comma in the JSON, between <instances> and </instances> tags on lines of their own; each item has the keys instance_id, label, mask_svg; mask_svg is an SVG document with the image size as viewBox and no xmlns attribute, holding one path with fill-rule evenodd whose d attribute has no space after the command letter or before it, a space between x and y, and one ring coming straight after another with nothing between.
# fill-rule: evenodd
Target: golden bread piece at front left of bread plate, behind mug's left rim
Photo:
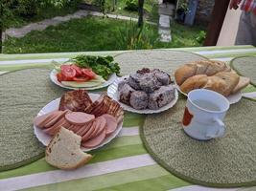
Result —
<instances>
[{"instance_id":1,"label":"golden bread piece at front left of bread plate, behind mug's left rim","mask_svg":"<svg viewBox=\"0 0 256 191\"><path fill-rule=\"evenodd\" d=\"M180 90L183 93L188 94L190 91L202 88L207 83L208 78L206 74L198 74L192 77L189 77L182 85Z\"/></svg>"}]
</instances>

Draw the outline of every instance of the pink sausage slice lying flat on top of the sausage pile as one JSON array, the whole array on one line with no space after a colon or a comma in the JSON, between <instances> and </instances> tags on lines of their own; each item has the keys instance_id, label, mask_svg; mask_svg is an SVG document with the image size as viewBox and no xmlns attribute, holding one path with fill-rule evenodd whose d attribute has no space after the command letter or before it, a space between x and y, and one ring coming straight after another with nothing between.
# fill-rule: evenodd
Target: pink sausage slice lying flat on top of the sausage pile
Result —
<instances>
[{"instance_id":1,"label":"pink sausage slice lying flat on top of the sausage pile","mask_svg":"<svg viewBox=\"0 0 256 191\"><path fill-rule=\"evenodd\" d=\"M95 117L94 115L85 114L83 112L71 112L66 114L65 118L72 124L84 125L85 123L93 120Z\"/></svg>"}]
</instances>

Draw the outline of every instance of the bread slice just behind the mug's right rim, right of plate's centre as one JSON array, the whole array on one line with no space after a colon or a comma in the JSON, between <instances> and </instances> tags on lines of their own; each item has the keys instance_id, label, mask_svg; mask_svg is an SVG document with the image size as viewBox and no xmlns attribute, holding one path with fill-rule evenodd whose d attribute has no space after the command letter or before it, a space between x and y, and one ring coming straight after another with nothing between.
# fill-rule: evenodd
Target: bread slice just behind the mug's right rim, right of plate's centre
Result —
<instances>
[{"instance_id":1,"label":"bread slice just behind the mug's right rim, right of plate's centre","mask_svg":"<svg viewBox=\"0 0 256 191\"><path fill-rule=\"evenodd\" d=\"M226 85L222 95L223 96L231 95L234 88L238 85L239 75L234 73L229 73L229 72L221 72L221 73L215 74L215 76L218 76L225 81Z\"/></svg>"}]
</instances>

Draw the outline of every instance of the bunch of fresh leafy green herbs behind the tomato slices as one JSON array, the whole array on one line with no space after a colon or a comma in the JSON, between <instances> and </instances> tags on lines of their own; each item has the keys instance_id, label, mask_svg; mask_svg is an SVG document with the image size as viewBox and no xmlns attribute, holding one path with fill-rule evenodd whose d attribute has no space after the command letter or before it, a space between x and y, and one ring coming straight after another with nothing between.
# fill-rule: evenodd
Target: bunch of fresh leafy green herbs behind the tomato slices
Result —
<instances>
[{"instance_id":1,"label":"bunch of fresh leafy green herbs behind the tomato slices","mask_svg":"<svg viewBox=\"0 0 256 191\"><path fill-rule=\"evenodd\" d=\"M120 74L118 63L115 63L110 55L104 57L80 54L71 61L81 68L91 68L94 73L102 75L106 80L110 74Z\"/></svg>"}]
</instances>

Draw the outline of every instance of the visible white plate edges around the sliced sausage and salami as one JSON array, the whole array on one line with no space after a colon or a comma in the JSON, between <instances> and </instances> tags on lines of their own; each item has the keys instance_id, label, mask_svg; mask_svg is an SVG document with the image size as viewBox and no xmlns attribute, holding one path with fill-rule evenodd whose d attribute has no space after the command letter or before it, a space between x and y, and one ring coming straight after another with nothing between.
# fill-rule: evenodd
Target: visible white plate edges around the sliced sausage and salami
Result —
<instances>
[{"instance_id":1,"label":"visible white plate edges around the sliced sausage and salami","mask_svg":"<svg viewBox=\"0 0 256 191\"><path fill-rule=\"evenodd\" d=\"M96 95L96 94L89 94L90 98L95 101L100 95ZM52 112L54 110L58 110L58 104L59 104L59 100L60 98L57 98L53 101L51 101L50 103L48 103L47 105L45 105L37 114L37 116L42 116L44 114L47 114L49 112ZM110 136L108 136L107 138L105 138L105 140L103 141L102 144L100 144L97 147L94 148L90 148L90 149L86 149L84 147L81 147L81 150L84 152L87 151L91 151L94 149L98 149L102 146L104 146L105 144L107 144L108 142L110 142L113 138L117 137L117 135L119 134L119 132L121 131L123 126L123 122L121 124L118 125L117 129L115 132L113 132ZM36 138L39 139L40 142L42 142L45 146L47 146L49 144L49 142L51 141L52 137L45 134L40 128L35 127L34 125L34 131L35 131L35 136Z\"/></svg>"}]
</instances>

